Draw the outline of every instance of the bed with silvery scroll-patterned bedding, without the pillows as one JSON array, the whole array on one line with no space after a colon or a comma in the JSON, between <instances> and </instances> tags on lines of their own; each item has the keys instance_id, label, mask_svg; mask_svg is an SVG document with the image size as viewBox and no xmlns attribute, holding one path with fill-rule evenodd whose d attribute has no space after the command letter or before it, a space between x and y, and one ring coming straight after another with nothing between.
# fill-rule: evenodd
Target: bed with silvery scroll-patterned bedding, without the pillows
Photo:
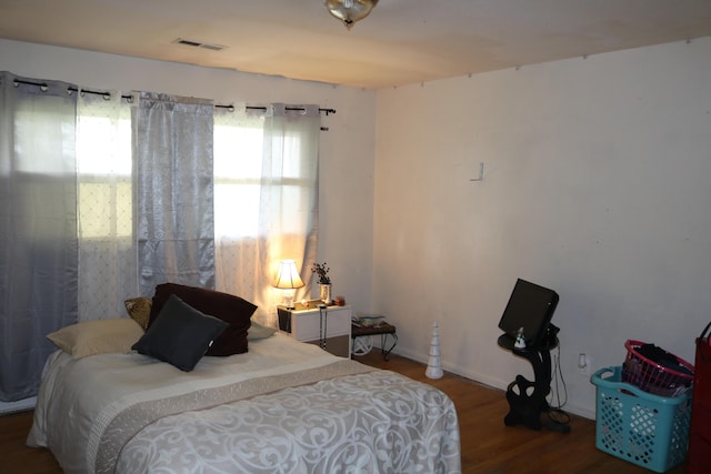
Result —
<instances>
[{"instance_id":1,"label":"bed with silvery scroll-patterned bedding, without the pillows","mask_svg":"<svg viewBox=\"0 0 711 474\"><path fill-rule=\"evenodd\" d=\"M461 472L441 391L270 334L190 371L136 351L58 350L28 444L66 473Z\"/></svg>"}]
</instances>

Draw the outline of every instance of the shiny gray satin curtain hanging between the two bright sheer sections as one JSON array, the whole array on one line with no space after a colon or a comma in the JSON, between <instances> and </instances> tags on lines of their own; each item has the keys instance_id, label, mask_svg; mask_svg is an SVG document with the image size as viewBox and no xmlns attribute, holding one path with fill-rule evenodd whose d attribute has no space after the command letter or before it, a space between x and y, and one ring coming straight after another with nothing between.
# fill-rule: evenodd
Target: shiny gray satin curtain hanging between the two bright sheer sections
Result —
<instances>
[{"instance_id":1,"label":"shiny gray satin curtain hanging between the two bright sheer sections","mask_svg":"<svg viewBox=\"0 0 711 474\"><path fill-rule=\"evenodd\" d=\"M213 103L142 92L134 113L140 294L214 289Z\"/></svg>"}]
</instances>

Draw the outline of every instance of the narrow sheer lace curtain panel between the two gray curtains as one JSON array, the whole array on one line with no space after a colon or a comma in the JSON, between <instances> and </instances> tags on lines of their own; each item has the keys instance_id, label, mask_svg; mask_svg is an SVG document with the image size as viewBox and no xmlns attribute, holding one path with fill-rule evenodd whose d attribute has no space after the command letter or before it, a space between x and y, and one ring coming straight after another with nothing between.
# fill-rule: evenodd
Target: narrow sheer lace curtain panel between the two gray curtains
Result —
<instances>
[{"instance_id":1,"label":"narrow sheer lace curtain panel between the two gray curtains","mask_svg":"<svg viewBox=\"0 0 711 474\"><path fill-rule=\"evenodd\" d=\"M138 295L133 239L131 104L120 93L80 93L77 109L79 321L126 314Z\"/></svg>"}]
</instances>

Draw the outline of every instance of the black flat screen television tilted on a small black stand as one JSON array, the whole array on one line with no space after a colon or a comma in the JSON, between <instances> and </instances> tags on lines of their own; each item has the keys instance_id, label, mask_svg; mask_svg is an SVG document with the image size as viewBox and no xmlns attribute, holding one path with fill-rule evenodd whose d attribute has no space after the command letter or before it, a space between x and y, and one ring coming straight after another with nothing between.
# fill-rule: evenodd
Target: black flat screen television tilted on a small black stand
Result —
<instances>
[{"instance_id":1,"label":"black flat screen television tilted on a small black stand","mask_svg":"<svg viewBox=\"0 0 711 474\"><path fill-rule=\"evenodd\" d=\"M553 290L518 279L499 327L511 337L515 337L522 327L525 344L539 347L545 339L558 300Z\"/></svg>"}]
</instances>

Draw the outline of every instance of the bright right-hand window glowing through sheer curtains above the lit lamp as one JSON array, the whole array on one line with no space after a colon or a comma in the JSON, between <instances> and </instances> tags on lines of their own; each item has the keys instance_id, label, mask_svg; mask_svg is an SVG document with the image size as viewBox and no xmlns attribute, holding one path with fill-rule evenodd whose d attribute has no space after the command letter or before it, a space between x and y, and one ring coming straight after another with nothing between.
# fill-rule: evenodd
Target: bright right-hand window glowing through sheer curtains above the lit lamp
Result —
<instances>
[{"instance_id":1,"label":"bright right-hand window glowing through sheer curtains above the lit lamp","mask_svg":"<svg viewBox=\"0 0 711 474\"><path fill-rule=\"evenodd\" d=\"M303 233L303 215L312 212L316 185L314 161L310 150L304 150L308 140L299 128L270 135L264 127L263 117L216 114L217 240L264 238L273 230L260 229L260 212L266 209L278 210L280 233ZM271 150L268 159L263 158L266 149ZM273 202L267 205L264 200Z\"/></svg>"}]
</instances>

